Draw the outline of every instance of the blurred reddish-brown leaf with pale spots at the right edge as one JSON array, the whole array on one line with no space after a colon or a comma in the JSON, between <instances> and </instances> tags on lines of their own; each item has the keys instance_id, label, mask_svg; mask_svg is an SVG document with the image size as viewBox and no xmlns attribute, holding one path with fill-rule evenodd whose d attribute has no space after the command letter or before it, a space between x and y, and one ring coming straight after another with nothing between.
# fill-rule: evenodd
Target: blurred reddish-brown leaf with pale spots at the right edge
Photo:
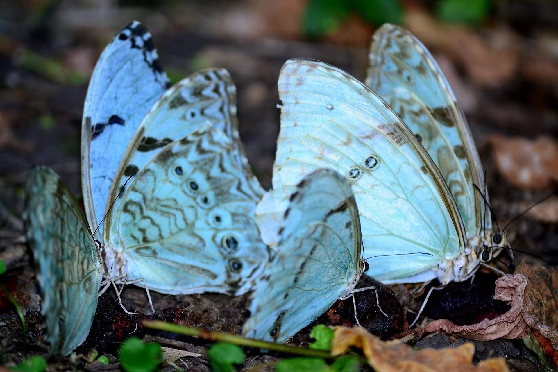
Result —
<instances>
[{"instance_id":1,"label":"blurred reddish-brown leaf with pale spots at the right edge","mask_svg":"<svg viewBox=\"0 0 558 372\"><path fill-rule=\"evenodd\" d=\"M526 190L551 190L558 182L558 143L551 137L536 141L493 134L494 163L501 175L514 186Z\"/></svg>"}]
</instances>

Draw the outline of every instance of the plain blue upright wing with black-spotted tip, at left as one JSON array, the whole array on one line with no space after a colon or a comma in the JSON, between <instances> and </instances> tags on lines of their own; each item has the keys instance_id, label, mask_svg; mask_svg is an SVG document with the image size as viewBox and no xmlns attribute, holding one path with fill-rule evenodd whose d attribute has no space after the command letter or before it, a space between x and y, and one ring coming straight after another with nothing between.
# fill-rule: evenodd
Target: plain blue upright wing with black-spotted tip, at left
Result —
<instances>
[{"instance_id":1,"label":"plain blue upright wing with black-spotted tip, at left","mask_svg":"<svg viewBox=\"0 0 558 372\"><path fill-rule=\"evenodd\" d=\"M92 230L103 219L110 185L128 142L167 84L151 33L140 22L122 28L100 56L81 126L81 183Z\"/></svg>"}]
</instances>

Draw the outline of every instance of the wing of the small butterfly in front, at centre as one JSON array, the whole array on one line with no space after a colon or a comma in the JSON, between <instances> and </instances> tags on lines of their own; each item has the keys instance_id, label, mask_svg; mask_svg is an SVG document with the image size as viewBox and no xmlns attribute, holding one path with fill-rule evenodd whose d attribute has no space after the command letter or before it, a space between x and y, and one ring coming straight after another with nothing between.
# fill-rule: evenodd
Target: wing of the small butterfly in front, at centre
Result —
<instances>
[{"instance_id":1,"label":"wing of the small butterfly in front, at centre","mask_svg":"<svg viewBox=\"0 0 558 372\"><path fill-rule=\"evenodd\" d=\"M282 343L360 277L358 210L343 176L331 170L306 176L290 197L280 235L280 249L253 293L242 334Z\"/></svg>"}]
</instances>

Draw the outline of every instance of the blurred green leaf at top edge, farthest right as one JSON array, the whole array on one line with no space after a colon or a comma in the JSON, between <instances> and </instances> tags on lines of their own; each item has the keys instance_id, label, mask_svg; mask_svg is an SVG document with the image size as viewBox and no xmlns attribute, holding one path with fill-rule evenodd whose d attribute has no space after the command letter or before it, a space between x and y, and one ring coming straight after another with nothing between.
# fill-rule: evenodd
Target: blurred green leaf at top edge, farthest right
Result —
<instances>
[{"instance_id":1,"label":"blurred green leaf at top edge, farthest right","mask_svg":"<svg viewBox=\"0 0 558 372\"><path fill-rule=\"evenodd\" d=\"M477 25L490 11L490 0L440 0L436 16L446 22Z\"/></svg>"}]
</instances>

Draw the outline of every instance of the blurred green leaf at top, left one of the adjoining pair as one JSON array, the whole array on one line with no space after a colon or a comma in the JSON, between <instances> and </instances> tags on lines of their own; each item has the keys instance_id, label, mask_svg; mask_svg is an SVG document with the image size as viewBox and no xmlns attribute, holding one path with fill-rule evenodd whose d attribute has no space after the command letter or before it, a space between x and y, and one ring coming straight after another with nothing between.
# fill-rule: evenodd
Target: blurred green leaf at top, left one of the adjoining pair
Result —
<instances>
[{"instance_id":1,"label":"blurred green leaf at top, left one of the adjoining pair","mask_svg":"<svg viewBox=\"0 0 558 372\"><path fill-rule=\"evenodd\" d=\"M302 17L304 33L318 37L336 31L349 15L343 0L310 0Z\"/></svg>"}]
</instances>

